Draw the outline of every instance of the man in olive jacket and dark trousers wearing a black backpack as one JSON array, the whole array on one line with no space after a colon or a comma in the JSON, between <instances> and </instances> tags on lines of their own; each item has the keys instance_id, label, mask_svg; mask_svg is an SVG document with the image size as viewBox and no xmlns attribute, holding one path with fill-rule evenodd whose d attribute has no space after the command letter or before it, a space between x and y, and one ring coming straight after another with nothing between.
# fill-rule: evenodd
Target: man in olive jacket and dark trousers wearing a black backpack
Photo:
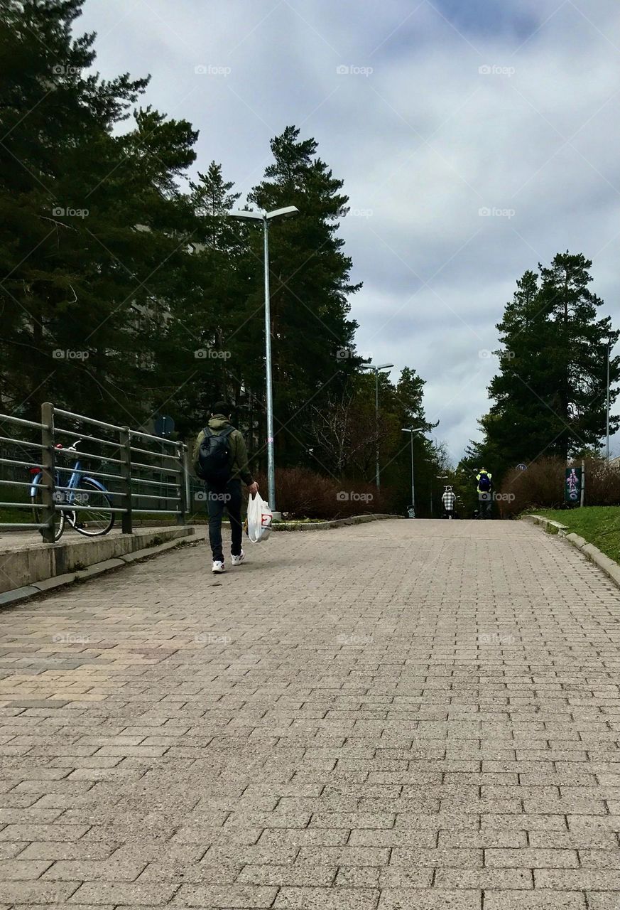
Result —
<instances>
[{"instance_id":1,"label":"man in olive jacket and dark trousers wearing a black backpack","mask_svg":"<svg viewBox=\"0 0 620 910\"><path fill-rule=\"evenodd\" d=\"M241 481L254 496L258 484L247 464L245 440L230 422L231 409L225 401L217 401L205 430L198 434L194 447L194 469L205 481L206 508L209 514L209 543L215 573L225 571L222 548L222 517L224 510L230 519L230 555L234 566L241 565L245 553L241 546Z\"/></svg>"}]
</instances>

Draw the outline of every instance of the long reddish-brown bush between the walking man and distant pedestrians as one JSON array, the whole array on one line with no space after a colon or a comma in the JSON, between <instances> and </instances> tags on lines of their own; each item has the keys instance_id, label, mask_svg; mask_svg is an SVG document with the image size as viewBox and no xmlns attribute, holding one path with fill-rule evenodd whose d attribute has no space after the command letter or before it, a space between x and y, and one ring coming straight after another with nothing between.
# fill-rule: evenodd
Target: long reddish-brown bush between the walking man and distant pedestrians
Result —
<instances>
[{"instance_id":1,"label":"long reddish-brown bush between the walking man and distant pedestrians","mask_svg":"<svg viewBox=\"0 0 620 910\"><path fill-rule=\"evenodd\" d=\"M257 478L266 498L265 475ZM275 470L277 510L289 519L336 519L389 511L388 490L378 492L372 483L324 477L307 468Z\"/></svg>"}]
</instances>

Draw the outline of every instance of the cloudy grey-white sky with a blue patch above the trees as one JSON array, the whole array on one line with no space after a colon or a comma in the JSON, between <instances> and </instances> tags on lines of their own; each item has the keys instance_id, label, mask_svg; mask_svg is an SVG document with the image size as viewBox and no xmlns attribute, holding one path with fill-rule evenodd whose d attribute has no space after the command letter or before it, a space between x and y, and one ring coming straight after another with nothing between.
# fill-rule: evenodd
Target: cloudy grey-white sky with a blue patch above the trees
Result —
<instances>
[{"instance_id":1,"label":"cloudy grey-white sky with a blue patch above the trees","mask_svg":"<svg viewBox=\"0 0 620 910\"><path fill-rule=\"evenodd\" d=\"M618 320L617 0L86 0L76 27L244 195L272 136L315 137L350 197L357 348L417 369L453 460L526 268L585 253Z\"/></svg>"}]
</instances>

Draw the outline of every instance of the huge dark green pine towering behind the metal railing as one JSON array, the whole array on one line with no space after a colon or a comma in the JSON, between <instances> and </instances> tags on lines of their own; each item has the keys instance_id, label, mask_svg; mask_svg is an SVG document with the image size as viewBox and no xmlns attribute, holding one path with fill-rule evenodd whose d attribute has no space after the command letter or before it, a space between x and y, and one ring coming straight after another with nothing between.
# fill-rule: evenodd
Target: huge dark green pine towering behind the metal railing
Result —
<instances>
[{"instance_id":1,"label":"huge dark green pine towering behind the metal railing","mask_svg":"<svg viewBox=\"0 0 620 910\"><path fill-rule=\"evenodd\" d=\"M83 2L3 4L0 396L31 416L53 399L135 422L183 293L191 213L175 181L197 134L150 108L113 134L148 79L85 73L95 35L72 35Z\"/></svg>"}]
</instances>

